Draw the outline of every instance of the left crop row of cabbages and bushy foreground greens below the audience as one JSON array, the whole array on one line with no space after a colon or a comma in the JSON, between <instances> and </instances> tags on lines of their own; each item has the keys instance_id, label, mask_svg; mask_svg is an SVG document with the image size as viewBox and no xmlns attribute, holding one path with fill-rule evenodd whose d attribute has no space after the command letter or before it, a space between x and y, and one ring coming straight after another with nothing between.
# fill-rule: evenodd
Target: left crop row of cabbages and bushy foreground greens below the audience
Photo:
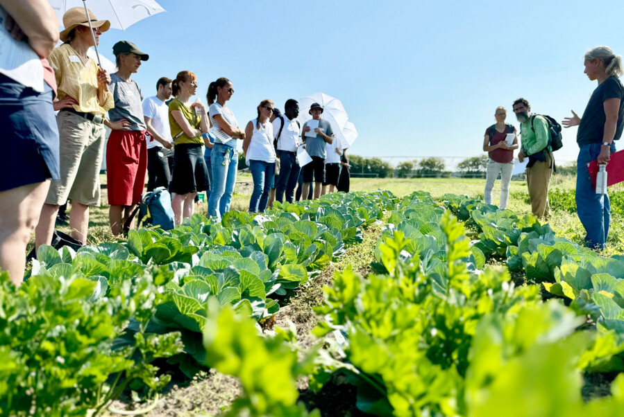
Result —
<instances>
[{"instance_id":1,"label":"left crop row of cabbages and bushy foreground greens below the audience","mask_svg":"<svg viewBox=\"0 0 624 417\"><path fill-rule=\"evenodd\" d=\"M137 380L162 389L169 376L158 358L193 375L209 365L208 301L271 317L394 200L343 194L262 216L227 213L220 224L194 215L78 251L41 247L22 287L2 278L0 414L100 412Z\"/></svg>"}]
</instances>

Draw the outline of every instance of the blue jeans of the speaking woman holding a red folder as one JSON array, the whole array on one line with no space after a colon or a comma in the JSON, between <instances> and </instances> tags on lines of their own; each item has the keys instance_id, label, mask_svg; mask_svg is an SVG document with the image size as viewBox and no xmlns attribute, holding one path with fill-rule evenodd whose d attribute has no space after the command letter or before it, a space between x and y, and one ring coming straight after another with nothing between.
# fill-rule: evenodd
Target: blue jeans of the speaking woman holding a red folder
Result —
<instances>
[{"instance_id":1,"label":"blue jeans of the speaking woman holding a red folder","mask_svg":"<svg viewBox=\"0 0 624 417\"><path fill-rule=\"evenodd\" d=\"M605 249L611 222L611 204L609 195L596 194L591 184L587 163L598 159L601 143L584 145L578 153L576 172L576 212L583 224L587 236L585 246L592 249ZM615 143L611 144L611 153L615 152Z\"/></svg>"}]
</instances>

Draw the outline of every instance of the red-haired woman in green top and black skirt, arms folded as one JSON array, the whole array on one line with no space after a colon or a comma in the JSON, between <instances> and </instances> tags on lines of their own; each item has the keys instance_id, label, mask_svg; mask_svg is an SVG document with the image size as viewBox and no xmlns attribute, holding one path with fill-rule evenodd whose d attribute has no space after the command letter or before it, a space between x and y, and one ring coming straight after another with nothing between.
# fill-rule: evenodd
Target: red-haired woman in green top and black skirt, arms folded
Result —
<instances>
[{"instance_id":1,"label":"red-haired woman in green top and black skirt, arms folded","mask_svg":"<svg viewBox=\"0 0 624 417\"><path fill-rule=\"evenodd\" d=\"M181 71L172 83L178 96L169 103L169 126L174 138L174 173L171 178L171 193L176 193L171 206L176 215L176 224L190 218L194 212L194 199L198 192L210 189L208 168L201 152L201 145L212 148L208 139L208 114L197 100L190 98L197 91L197 77L191 71Z\"/></svg>"}]
</instances>

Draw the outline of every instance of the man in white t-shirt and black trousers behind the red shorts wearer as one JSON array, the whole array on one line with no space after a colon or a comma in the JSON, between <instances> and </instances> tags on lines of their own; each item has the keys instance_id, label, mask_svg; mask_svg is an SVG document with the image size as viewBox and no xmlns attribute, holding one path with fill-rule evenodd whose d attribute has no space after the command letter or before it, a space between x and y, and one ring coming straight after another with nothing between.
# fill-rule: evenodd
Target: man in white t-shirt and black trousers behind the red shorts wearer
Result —
<instances>
[{"instance_id":1,"label":"man in white t-shirt and black trousers behind the red shorts wearer","mask_svg":"<svg viewBox=\"0 0 624 417\"><path fill-rule=\"evenodd\" d=\"M169 106L165 103L171 97L171 78L162 77L156 83L157 94L143 101L143 116L147 131L151 135L147 141L147 190L169 187L171 170L169 157L171 130L169 129Z\"/></svg>"}]
</instances>

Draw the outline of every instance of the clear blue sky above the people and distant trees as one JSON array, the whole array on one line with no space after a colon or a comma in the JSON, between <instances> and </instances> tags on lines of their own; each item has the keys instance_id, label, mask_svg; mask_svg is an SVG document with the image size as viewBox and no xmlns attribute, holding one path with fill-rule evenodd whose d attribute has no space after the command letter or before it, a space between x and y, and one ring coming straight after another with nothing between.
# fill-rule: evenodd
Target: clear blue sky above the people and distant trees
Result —
<instances>
[{"instance_id":1,"label":"clear blue sky above the people and distant trees","mask_svg":"<svg viewBox=\"0 0 624 417\"><path fill-rule=\"evenodd\" d=\"M521 96L559 121L582 114L596 88L584 53L606 44L624 54L621 0L158 2L167 12L100 43L109 59L121 39L150 54L134 76L146 96L160 76L188 69L205 101L209 82L225 76L244 125L264 98L283 109L323 91L360 133L351 152L368 157L482 154L496 107L517 126L511 105ZM564 132L559 161L575 160L575 134Z\"/></svg>"}]
</instances>

